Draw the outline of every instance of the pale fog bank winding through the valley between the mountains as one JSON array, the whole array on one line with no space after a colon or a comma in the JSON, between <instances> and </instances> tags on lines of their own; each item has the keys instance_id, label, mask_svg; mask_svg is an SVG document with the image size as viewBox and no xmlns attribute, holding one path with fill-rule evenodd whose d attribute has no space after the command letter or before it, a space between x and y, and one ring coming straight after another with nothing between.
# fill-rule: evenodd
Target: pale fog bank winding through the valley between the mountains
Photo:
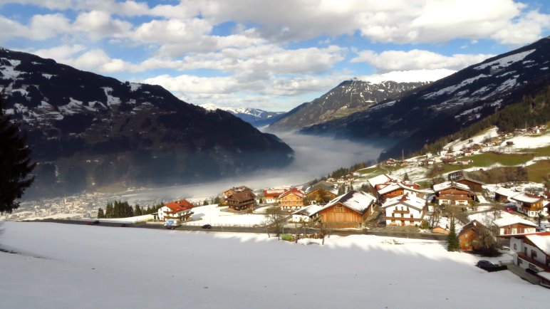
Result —
<instances>
[{"instance_id":1,"label":"pale fog bank winding through the valley between the mountains","mask_svg":"<svg viewBox=\"0 0 550 309\"><path fill-rule=\"evenodd\" d=\"M391 142L387 140L373 140L369 144L361 144L290 132L278 133L277 136L295 152L294 162L288 167L263 169L246 176L224 178L215 182L146 189L135 194L125 194L123 199L130 203L179 198L202 200L239 185L246 185L252 189L298 185L326 176L340 167L350 167L358 162L377 159L380 152L391 146Z\"/></svg>"}]
</instances>

